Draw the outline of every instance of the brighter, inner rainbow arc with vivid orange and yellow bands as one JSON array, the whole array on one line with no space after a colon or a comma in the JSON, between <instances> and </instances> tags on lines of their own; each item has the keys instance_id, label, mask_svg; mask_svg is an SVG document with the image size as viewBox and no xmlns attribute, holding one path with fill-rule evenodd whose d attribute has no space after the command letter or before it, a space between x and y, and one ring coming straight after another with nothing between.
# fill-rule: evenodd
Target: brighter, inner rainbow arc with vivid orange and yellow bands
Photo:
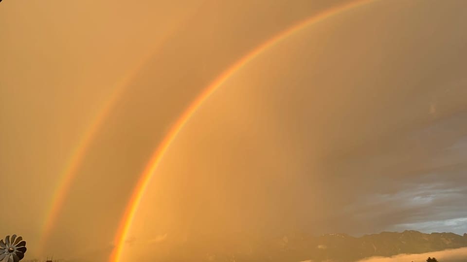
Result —
<instances>
[{"instance_id":1,"label":"brighter, inner rainbow arc with vivid orange and yellow bands","mask_svg":"<svg viewBox=\"0 0 467 262\"><path fill-rule=\"evenodd\" d=\"M158 167L159 163L162 160L167 148L171 145L171 143L175 140L180 130L185 126L188 120L196 113L198 108L206 101L215 91L219 88L224 82L226 82L236 71L240 70L243 66L248 64L251 60L256 58L258 55L264 53L266 50L270 49L281 40L284 40L288 36L299 32L302 29L305 29L307 26L316 24L320 21L325 20L331 16L336 16L341 14L344 11L349 11L359 6L368 4L376 0L356 0L344 5L340 5L328 10L323 11L322 13L309 17L302 22L288 28L287 30L277 34L276 36L272 37L268 41L264 42L257 48L253 49L250 53L242 57L238 60L234 65L230 66L227 70L225 70L222 74L220 74L215 81L213 81L206 89L202 91L202 93L196 98L190 106L180 115L177 122L172 126L170 131L162 140L159 147L154 151L150 161L148 162L144 172L142 173L138 183L135 186L133 194L128 201L126 206L126 211L123 215L121 224L118 228L117 234L114 239L115 248L110 255L109 262L120 262L120 258L122 256L123 247L125 244L126 237L128 235L129 229L133 222L134 216L136 211L138 210L139 204L141 199L144 195L144 192L151 180L152 176L156 168Z\"/></svg>"}]
</instances>

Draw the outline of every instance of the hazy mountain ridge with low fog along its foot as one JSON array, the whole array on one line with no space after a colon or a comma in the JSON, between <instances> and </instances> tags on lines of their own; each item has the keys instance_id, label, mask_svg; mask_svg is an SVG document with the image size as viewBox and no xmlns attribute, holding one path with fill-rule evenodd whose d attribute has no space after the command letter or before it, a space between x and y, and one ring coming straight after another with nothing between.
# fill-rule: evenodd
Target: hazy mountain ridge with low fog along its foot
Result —
<instances>
[{"instance_id":1,"label":"hazy mountain ridge with low fog along its foot","mask_svg":"<svg viewBox=\"0 0 467 262\"><path fill-rule=\"evenodd\" d=\"M414 230L381 232L353 237L347 234L321 236L289 235L263 240L234 252L208 253L190 261L211 262L354 262L373 256L420 254L467 246L467 233L422 233ZM242 250L241 250L242 249ZM194 254L192 254L194 255ZM201 255L201 254L199 254Z\"/></svg>"}]
</instances>

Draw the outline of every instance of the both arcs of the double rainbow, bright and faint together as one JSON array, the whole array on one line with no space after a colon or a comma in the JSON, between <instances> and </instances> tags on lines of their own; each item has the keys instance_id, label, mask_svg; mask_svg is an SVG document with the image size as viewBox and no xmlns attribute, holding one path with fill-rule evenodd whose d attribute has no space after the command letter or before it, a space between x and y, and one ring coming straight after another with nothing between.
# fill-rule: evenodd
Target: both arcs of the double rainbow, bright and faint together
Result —
<instances>
[{"instance_id":1,"label":"both arcs of the double rainbow, bright and faint together","mask_svg":"<svg viewBox=\"0 0 467 262\"><path fill-rule=\"evenodd\" d=\"M377 0L355 0L349 3L345 3L328 10L325 10L315 16L308 17L307 19L293 25L287 30L275 35L270 38L263 44L259 45L251 52L243 56L233 65L229 66L223 73L221 73L211 84L209 84L198 97L190 104L190 106L183 112L182 115L178 118L175 124L172 126L170 131L164 137L159 147L156 148L154 153L151 156L150 161L146 165L144 172L140 175L140 178L133 190L133 193L126 205L125 213L123 214L119 228L114 238L114 249L109 258L109 262L120 262L123 248L125 246L125 240L127 238L128 232L131 228L132 221L134 216L139 208L141 199L143 198L144 192L154 176L154 173L161 163L162 158L170 147L171 143L175 140L179 132L183 129L188 120L197 112L198 108L206 101L224 82L226 82L232 75L235 74L238 70L242 69L245 65L251 62L254 58L266 52L268 49L277 45L282 40L287 37L307 28L308 26L314 25L320 21L323 21L332 16L339 15L343 12L350 11L357 7L363 6L365 4L374 2ZM68 194L72 180L75 178L77 171L80 165L83 162L84 157L90 147L92 140L94 139L96 133L99 131L102 123L105 118L108 116L109 112L113 108L113 105L121 97L124 92L124 86L129 81L130 77L124 78L123 82L118 85L118 88L111 94L111 96L104 103L104 106L101 107L99 113L94 117L89 125L89 128L85 131L81 140L75 147L72 153L70 161L65 165L63 175L59 181L59 186L54 192L54 202L47 212L47 217L42 229L42 245L47 241L50 232L54 226L54 223L57 219L57 216L63 206L64 200Z\"/></svg>"}]
</instances>

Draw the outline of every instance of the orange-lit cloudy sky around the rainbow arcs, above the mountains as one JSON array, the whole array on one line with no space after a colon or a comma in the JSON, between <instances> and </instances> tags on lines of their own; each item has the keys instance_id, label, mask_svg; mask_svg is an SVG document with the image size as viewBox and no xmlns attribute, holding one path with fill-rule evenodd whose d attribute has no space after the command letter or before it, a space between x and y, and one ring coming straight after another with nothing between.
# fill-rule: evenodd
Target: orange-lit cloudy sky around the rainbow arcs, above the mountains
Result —
<instances>
[{"instance_id":1,"label":"orange-lit cloudy sky around the rainbow arcs, above the mountains","mask_svg":"<svg viewBox=\"0 0 467 262\"><path fill-rule=\"evenodd\" d=\"M2 1L0 232L23 235L28 259L105 260L189 103L251 49L345 2ZM125 257L170 238L467 232L465 17L463 0L374 1L235 72L168 149ZM119 88L38 254L73 149Z\"/></svg>"}]
</instances>

